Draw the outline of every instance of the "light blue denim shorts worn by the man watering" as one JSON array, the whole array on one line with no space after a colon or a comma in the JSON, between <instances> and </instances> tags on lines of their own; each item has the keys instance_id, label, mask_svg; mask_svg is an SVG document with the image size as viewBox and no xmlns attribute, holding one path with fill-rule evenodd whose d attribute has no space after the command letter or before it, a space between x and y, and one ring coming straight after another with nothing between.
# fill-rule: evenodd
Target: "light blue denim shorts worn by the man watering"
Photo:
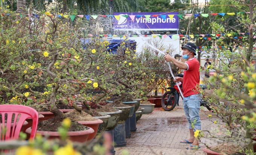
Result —
<instances>
[{"instance_id":1,"label":"light blue denim shorts worn by the man watering","mask_svg":"<svg viewBox=\"0 0 256 155\"><path fill-rule=\"evenodd\" d=\"M187 121L189 122L189 129L193 129L191 122L194 124L194 131L201 130L201 120L199 116L199 109L202 100L201 94L190 95L183 98L183 109ZM194 120L196 122L194 123Z\"/></svg>"}]
</instances>

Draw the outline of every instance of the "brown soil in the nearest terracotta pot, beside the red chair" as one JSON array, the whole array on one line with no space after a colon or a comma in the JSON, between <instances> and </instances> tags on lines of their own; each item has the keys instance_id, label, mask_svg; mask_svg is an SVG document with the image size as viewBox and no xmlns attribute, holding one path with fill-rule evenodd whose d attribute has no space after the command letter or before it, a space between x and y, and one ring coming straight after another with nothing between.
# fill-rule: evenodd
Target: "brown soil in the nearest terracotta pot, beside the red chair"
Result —
<instances>
[{"instance_id":1,"label":"brown soil in the nearest terracotta pot, beside the red chair","mask_svg":"<svg viewBox=\"0 0 256 155\"><path fill-rule=\"evenodd\" d=\"M37 130L57 132L58 128L62 126L63 119L64 119L63 116L55 116L45 121L41 121L38 123ZM71 125L68 131L82 131L82 130L88 130L88 129L89 129L88 127L85 127L84 125L79 124L76 121L71 121Z\"/></svg>"}]
</instances>

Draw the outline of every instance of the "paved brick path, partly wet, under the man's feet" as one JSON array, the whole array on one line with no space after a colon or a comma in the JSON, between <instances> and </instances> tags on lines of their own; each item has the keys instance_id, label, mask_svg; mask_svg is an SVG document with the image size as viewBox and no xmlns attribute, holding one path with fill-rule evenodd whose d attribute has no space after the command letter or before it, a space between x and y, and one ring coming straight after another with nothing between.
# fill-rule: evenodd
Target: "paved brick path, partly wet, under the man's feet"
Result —
<instances>
[{"instance_id":1,"label":"paved brick path, partly wet, under the man's feet","mask_svg":"<svg viewBox=\"0 0 256 155\"><path fill-rule=\"evenodd\" d=\"M126 149L130 155L206 155L203 152L204 145L200 144L196 152L187 150L189 144L180 143L180 140L189 138L188 122L186 120L183 104L180 99L180 106L174 110L155 111L151 114L143 114L137 122L137 131L131 132L131 138L126 139L126 147L115 148L116 155L122 155ZM205 108L206 109L206 108ZM216 128L207 118L207 112L200 112L201 130ZM203 139L208 144L216 143L210 139Z\"/></svg>"}]
</instances>

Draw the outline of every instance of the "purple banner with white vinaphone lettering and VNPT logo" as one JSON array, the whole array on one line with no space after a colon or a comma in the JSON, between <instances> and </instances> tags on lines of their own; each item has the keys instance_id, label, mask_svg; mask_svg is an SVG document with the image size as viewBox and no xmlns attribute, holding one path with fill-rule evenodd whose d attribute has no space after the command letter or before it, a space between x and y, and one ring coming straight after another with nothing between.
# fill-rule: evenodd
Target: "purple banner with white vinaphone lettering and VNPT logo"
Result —
<instances>
[{"instance_id":1,"label":"purple banner with white vinaphone lettering and VNPT logo","mask_svg":"<svg viewBox=\"0 0 256 155\"><path fill-rule=\"evenodd\" d=\"M178 30L178 12L114 12L113 27L118 30Z\"/></svg>"}]
</instances>

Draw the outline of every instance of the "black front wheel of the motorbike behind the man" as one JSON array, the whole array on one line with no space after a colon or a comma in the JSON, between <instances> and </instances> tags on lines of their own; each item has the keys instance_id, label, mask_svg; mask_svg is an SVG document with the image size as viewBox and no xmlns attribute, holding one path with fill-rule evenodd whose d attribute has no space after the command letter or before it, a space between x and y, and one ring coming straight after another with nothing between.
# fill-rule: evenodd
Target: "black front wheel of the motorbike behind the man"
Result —
<instances>
[{"instance_id":1,"label":"black front wheel of the motorbike behind the man","mask_svg":"<svg viewBox=\"0 0 256 155\"><path fill-rule=\"evenodd\" d=\"M163 94L161 105L165 111L171 111L172 109L174 109L174 107L176 106L175 95L171 93L171 91L168 91L165 94Z\"/></svg>"}]
</instances>

